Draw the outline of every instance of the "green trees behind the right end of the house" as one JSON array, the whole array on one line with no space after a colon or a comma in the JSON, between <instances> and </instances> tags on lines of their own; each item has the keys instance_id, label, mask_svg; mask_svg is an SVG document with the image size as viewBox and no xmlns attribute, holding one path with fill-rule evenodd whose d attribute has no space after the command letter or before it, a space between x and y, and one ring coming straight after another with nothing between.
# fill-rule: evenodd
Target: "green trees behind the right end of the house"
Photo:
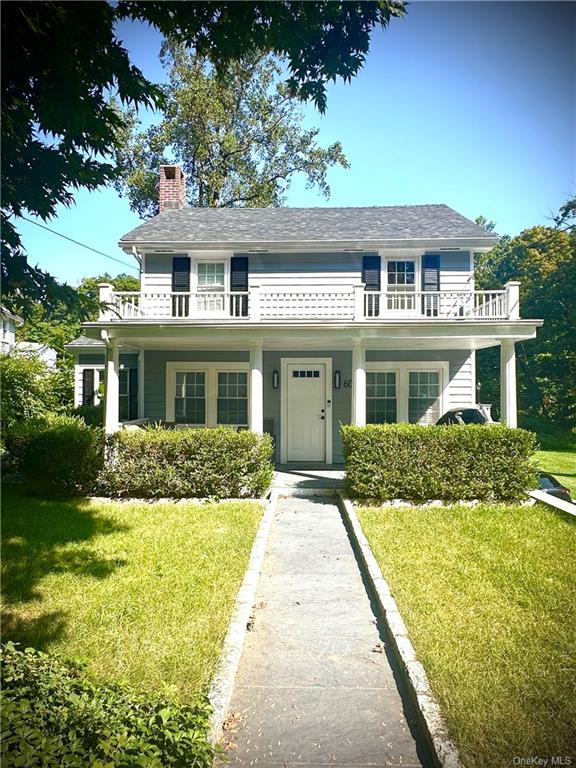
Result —
<instances>
[{"instance_id":1,"label":"green trees behind the right end of the house","mask_svg":"<svg viewBox=\"0 0 576 768\"><path fill-rule=\"evenodd\" d=\"M535 340L516 345L520 418L569 429L576 426L576 231L532 227L479 256L478 288L512 279L521 282L522 317L544 320ZM478 370L482 400L498 403L498 349L478 352Z\"/></svg>"}]
</instances>

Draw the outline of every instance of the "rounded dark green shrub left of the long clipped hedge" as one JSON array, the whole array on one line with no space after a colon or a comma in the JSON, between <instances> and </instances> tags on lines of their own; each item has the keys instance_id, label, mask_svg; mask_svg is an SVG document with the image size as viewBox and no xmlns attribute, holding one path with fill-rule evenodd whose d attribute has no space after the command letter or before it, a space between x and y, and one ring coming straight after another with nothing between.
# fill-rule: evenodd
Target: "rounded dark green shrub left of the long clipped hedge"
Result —
<instances>
[{"instance_id":1,"label":"rounded dark green shrub left of the long clipped hedge","mask_svg":"<svg viewBox=\"0 0 576 768\"><path fill-rule=\"evenodd\" d=\"M35 490L82 495L94 490L104 436L77 416L46 416L15 424L6 435L6 449Z\"/></svg>"}]
</instances>

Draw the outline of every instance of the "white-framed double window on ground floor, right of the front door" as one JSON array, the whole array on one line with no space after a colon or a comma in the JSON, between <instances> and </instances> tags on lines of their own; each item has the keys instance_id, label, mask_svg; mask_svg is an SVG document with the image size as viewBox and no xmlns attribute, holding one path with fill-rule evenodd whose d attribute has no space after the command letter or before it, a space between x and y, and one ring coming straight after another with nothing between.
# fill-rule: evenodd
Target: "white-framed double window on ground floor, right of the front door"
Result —
<instances>
[{"instance_id":1,"label":"white-framed double window on ground floor, right of the front door","mask_svg":"<svg viewBox=\"0 0 576 768\"><path fill-rule=\"evenodd\" d=\"M448 363L368 363L366 421L435 424L449 407Z\"/></svg>"}]
</instances>

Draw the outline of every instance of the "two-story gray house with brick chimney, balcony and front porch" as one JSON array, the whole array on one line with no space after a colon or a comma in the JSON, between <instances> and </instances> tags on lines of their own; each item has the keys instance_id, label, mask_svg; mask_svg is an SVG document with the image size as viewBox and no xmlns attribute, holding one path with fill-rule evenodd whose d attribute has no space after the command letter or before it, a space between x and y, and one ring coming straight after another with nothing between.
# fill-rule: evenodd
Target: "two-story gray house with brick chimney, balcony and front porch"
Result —
<instances>
[{"instance_id":1,"label":"two-story gray house with brick chimney, balcony and front porch","mask_svg":"<svg viewBox=\"0 0 576 768\"><path fill-rule=\"evenodd\" d=\"M475 351L500 346L502 420L516 425L519 284L476 291L496 238L445 205L186 208L161 168L160 213L120 240L141 291L105 302L77 354L77 402L106 368L120 420L268 431L281 462L340 462L339 424L432 424L476 400ZM106 360L106 362L105 362Z\"/></svg>"}]
</instances>

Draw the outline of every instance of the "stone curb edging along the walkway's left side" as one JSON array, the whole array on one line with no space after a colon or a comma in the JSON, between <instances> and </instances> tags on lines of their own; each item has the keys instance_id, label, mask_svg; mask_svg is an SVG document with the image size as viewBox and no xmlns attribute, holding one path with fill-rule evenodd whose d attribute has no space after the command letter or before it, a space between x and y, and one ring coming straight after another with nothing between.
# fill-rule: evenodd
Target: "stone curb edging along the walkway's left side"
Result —
<instances>
[{"instance_id":1,"label":"stone curb edging along the walkway's left side","mask_svg":"<svg viewBox=\"0 0 576 768\"><path fill-rule=\"evenodd\" d=\"M258 531L256 532L256 538L254 539L250 559L248 561L248 568L246 569L244 579L242 580L238 595L236 596L236 602L234 604L230 624L228 625L228 631L226 632L226 637L224 639L218 668L208 692L208 699L212 705L209 732L209 739L212 744L216 744L222 735L222 726L226 719L228 705L232 698L234 680L240 663L240 656L242 655L247 625L254 605L256 588L258 586L260 571L262 570L264 552L266 550L268 534L270 533L270 526L272 525L277 501L278 493L273 490L270 494L266 509L264 510L260 525L258 526Z\"/></svg>"}]
</instances>

